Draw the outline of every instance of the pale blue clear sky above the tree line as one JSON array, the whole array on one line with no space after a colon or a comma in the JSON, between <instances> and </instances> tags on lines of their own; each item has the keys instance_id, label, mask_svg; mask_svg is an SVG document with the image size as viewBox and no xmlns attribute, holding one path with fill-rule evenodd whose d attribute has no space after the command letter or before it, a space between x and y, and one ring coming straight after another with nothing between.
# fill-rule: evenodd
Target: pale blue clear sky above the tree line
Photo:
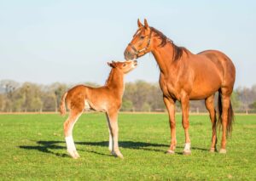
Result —
<instances>
[{"instance_id":1,"label":"pale blue clear sky above the tree line","mask_svg":"<svg viewBox=\"0 0 256 181\"><path fill-rule=\"evenodd\" d=\"M256 84L256 1L0 1L0 80L104 84L111 60L137 31L137 19L196 54L218 49L236 65L235 87ZM126 82L158 82L154 56Z\"/></svg>"}]
</instances>

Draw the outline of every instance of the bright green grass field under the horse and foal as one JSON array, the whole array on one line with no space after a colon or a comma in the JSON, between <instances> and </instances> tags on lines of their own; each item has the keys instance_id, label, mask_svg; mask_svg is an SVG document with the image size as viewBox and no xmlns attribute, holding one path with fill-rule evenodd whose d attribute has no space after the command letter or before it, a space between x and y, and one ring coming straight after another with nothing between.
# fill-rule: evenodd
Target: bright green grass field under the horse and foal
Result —
<instances>
[{"instance_id":1,"label":"bright green grass field under the horse and foal","mask_svg":"<svg viewBox=\"0 0 256 181\"><path fill-rule=\"evenodd\" d=\"M73 138L81 157L67 156L65 118L0 115L0 179L256 180L256 116L236 116L226 155L208 152L212 135L208 116L190 116L192 155L183 156L181 116L177 115L176 154L166 155L170 142L166 114L120 114L124 160L110 156L108 127L100 113L80 117Z\"/></svg>"}]
</instances>

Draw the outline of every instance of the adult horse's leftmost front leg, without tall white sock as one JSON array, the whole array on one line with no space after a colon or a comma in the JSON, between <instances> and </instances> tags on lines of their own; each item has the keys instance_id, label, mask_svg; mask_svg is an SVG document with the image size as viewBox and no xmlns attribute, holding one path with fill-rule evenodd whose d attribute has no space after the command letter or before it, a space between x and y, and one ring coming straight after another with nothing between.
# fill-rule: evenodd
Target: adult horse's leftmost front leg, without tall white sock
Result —
<instances>
[{"instance_id":1,"label":"adult horse's leftmost front leg, without tall white sock","mask_svg":"<svg viewBox=\"0 0 256 181\"><path fill-rule=\"evenodd\" d=\"M167 154L174 154L174 150L176 148L177 140L176 140L176 122L175 122L175 100L171 98L166 98L164 96L164 102L166 105L166 109L169 114L169 123L171 129L171 145L169 150L167 150Z\"/></svg>"}]
</instances>

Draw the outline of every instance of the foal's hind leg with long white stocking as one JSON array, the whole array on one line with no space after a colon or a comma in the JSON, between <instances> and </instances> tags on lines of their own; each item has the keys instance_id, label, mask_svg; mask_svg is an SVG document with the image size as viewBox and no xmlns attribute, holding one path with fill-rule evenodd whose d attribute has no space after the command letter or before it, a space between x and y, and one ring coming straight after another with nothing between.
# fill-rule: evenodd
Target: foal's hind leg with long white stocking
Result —
<instances>
[{"instance_id":1,"label":"foal's hind leg with long white stocking","mask_svg":"<svg viewBox=\"0 0 256 181\"><path fill-rule=\"evenodd\" d=\"M67 121L64 122L64 135L67 144L67 153L72 156L74 159L79 158L79 153L76 150L75 144L73 142L73 126L78 121L79 116L81 116L82 111L71 110Z\"/></svg>"}]
</instances>

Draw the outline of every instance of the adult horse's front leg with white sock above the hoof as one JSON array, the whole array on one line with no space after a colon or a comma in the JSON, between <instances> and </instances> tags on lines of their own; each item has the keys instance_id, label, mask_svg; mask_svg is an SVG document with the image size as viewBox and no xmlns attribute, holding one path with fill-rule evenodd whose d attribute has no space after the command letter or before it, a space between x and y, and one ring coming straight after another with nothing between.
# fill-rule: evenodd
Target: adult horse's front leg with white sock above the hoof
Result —
<instances>
[{"instance_id":1,"label":"adult horse's front leg with white sock above the hoof","mask_svg":"<svg viewBox=\"0 0 256 181\"><path fill-rule=\"evenodd\" d=\"M185 146L183 149L183 155L191 154L190 139L189 139L189 96L183 95L181 98L181 106L183 111L183 128L185 131Z\"/></svg>"}]
</instances>

